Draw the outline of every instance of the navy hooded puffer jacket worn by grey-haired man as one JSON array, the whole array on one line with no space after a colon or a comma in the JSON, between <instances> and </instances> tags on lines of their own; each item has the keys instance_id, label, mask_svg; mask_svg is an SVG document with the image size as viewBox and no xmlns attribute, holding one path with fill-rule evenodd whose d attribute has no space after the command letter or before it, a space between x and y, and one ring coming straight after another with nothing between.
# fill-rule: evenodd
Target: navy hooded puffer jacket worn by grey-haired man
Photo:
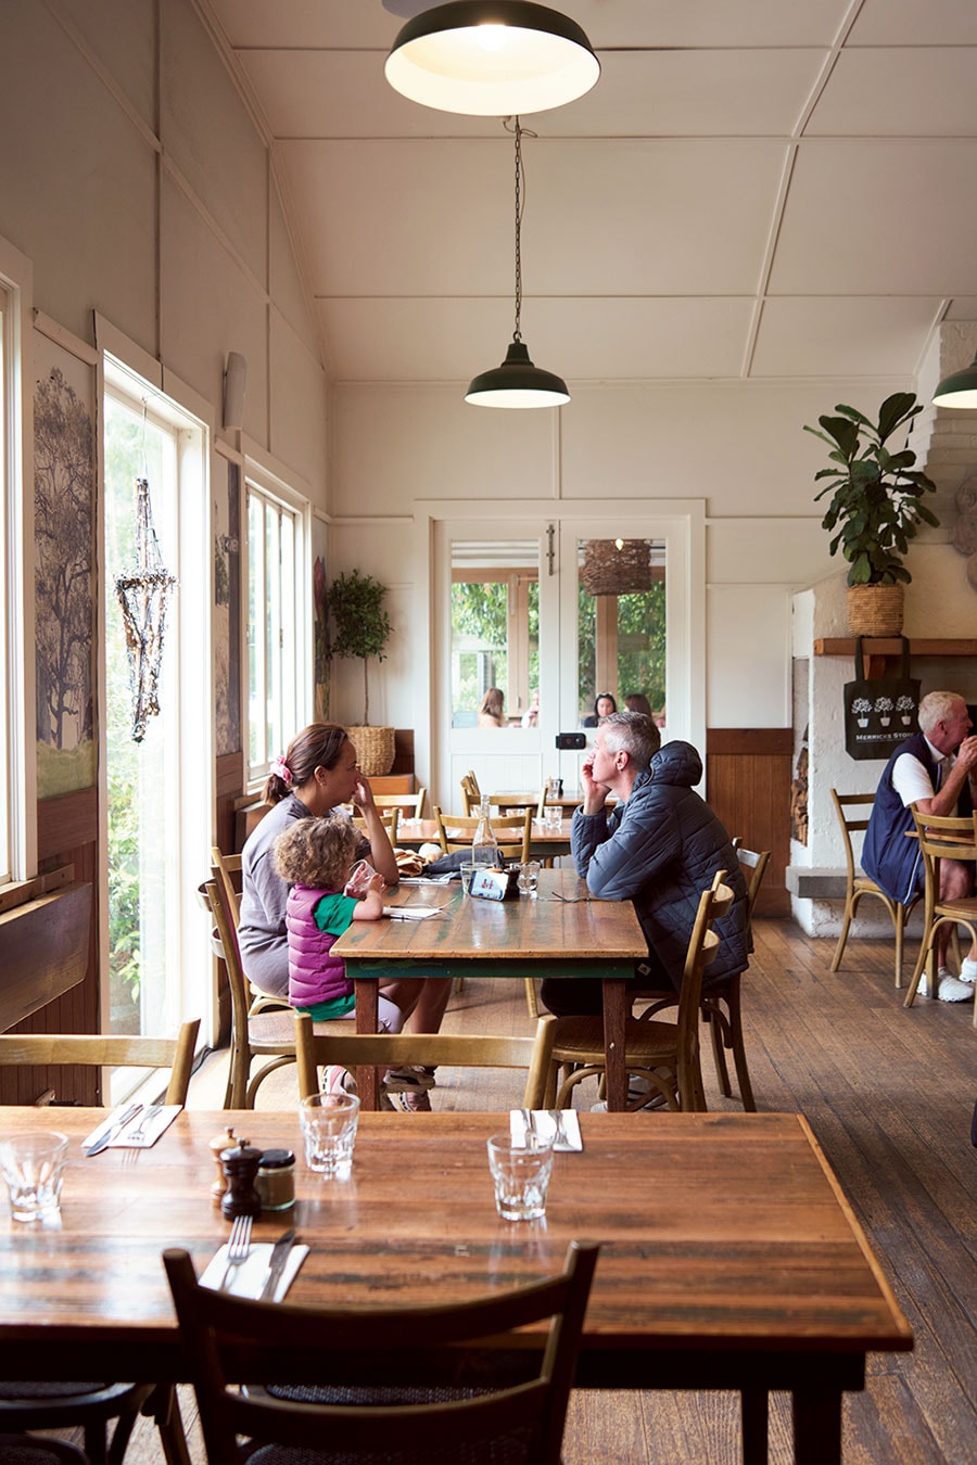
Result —
<instances>
[{"instance_id":1,"label":"navy hooded puffer jacket worn by grey-haired man","mask_svg":"<svg viewBox=\"0 0 977 1465\"><path fill-rule=\"evenodd\" d=\"M577 809L573 816L577 875L601 900L634 902L649 949L677 990L699 897L716 870L727 872L735 900L715 927L722 945L706 967L705 989L744 971L753 949L746 880L729 835L691 787L700 778L702 759L691 743L666 743L649 772L634 779L627 803L611 813L587 816Z\"/></svg>"}]
</instances>

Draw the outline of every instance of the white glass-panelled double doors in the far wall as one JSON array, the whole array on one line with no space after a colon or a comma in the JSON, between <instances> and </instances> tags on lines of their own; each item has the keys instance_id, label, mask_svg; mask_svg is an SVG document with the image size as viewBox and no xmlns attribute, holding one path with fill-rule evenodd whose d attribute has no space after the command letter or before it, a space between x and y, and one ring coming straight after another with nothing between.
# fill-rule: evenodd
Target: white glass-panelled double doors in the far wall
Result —
<instances>
[{"instance_id":1,"label":"white glass-panelled double doors in the far wall","mask_svg":"<svg viewBox=\"0 0 977 1465\"><path fill-rule=\"evenodd\" d=\"M668 737L702 747L702 505L606 505L574 514L437 524L432 771L442 807L460 778L483 791L579 785L595 703L647 702ZM601 703L606 711L606 703ZM558 747L582 734L584 749Z\"/></svg>"}]
</instances>

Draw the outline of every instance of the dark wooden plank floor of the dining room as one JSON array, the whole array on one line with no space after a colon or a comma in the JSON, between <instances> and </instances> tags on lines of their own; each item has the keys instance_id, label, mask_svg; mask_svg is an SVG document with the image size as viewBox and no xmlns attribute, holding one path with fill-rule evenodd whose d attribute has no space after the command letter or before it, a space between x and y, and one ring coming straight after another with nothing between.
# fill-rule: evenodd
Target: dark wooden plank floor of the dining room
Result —
<instances>
[{"instance_id":1,"label":"dark wooden plank floor of the dining room","mask_svg":"<svg viewBox=\"0 0 977 1465\"><path fill-rule=\"evenodd\" d=\"M845 1461L974 1465L973 1006L920 998L905 1011L902 993L892 986L889 942L851 942L847 970L832 974L832 943L806 938L791 921L759 920L754 941L744 1020L757 1106L807 1115L915 1332L913 1354L870 1355L869 1387L845 1405ZM530 1028L520 983L467 982L445 1021L445 1030L454 1031ZM703 1056L709 1106L738 1108L721 1099L710 1053ZM226 1058L215 1055L195 1078L190 1102L218 1108L224 1072ZM457 1074L439 1071L432 1102L435 1108L505 1109L517 1102L511 1084L513 1075L467 1075L461 1083ZM579 1103L595 1097L587 1093ZM259 1093L258 1109L293 1102L293 1071L283 1069ZM653 1113L634 1116L634 1124L655 1122ZM250 1137L261 1143L259 1112ZM668 1176L662 1176L662 1204L668 1204ZM195 1458L202 1461L186 1390L183 1412ZM785 1465L791 1458L788 1401L775 1396L770 1461ZM154 1430L141 1425L129 1465L160 1459ZM738 1459L732 1395L587 1392L573 1398L565 1465L734 1465Z\"/></svg>"}]
</instances>

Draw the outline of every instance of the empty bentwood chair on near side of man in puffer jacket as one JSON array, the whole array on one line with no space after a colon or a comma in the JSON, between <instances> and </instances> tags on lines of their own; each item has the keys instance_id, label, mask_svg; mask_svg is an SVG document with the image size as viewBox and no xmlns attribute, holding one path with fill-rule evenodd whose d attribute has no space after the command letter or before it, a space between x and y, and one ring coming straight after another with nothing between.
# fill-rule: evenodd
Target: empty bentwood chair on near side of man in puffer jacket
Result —
<instances>
[{"instance_id":1,"label":"empty bentwood chair on near side of man in puffer jacket","mask_svg":"<svg viewBox=\"0 0 977 1465\"><path fill-rule=\"evenodd\" d=\"M734 892L724 885L725 870L699 898L699 910L686 949L678 1021L658 1023L628 1017L624 1028L624 1067L646 1080L647 1093L628 1103L628 1110L665 1100L683 1113L706 1110L699 1064L699 1004L706 967L719 949L712 930L732 905ZM584 1078L606 1072L603 1020L601 1017L557 1018L545 1109L568 1108L573 1088Z\"/></svg>"}]
</instances>

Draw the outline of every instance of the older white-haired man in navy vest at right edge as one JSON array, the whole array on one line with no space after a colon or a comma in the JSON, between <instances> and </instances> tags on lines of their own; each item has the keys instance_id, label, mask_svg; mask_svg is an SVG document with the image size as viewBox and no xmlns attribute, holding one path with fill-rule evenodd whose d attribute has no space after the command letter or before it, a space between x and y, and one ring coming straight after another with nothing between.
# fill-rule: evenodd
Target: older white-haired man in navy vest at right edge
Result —
<instances>
[{"instance_id":1,"label":"older white-haired man in navy vest at right edge","mask_svg":"<svg viewBox=\"0 0 977 1465\"><path fill-rule=\"evenodd\" d=\"M921 815L948 817L973 812L971 774L977 766L977 737L967 703L956 691L930 691L920 702L920 731L899 743L879 779L876 801L861 850L861 866L894 901L908 905L923 885L923 857L913 829L915 804ZM974 866L940 860L940 898L959 900L974 889ZM936 933L937 996L940 1002L973 1002L977 945L961 964L959 977L946 965L951 927Z\"/></svg>"}]
</instances>

